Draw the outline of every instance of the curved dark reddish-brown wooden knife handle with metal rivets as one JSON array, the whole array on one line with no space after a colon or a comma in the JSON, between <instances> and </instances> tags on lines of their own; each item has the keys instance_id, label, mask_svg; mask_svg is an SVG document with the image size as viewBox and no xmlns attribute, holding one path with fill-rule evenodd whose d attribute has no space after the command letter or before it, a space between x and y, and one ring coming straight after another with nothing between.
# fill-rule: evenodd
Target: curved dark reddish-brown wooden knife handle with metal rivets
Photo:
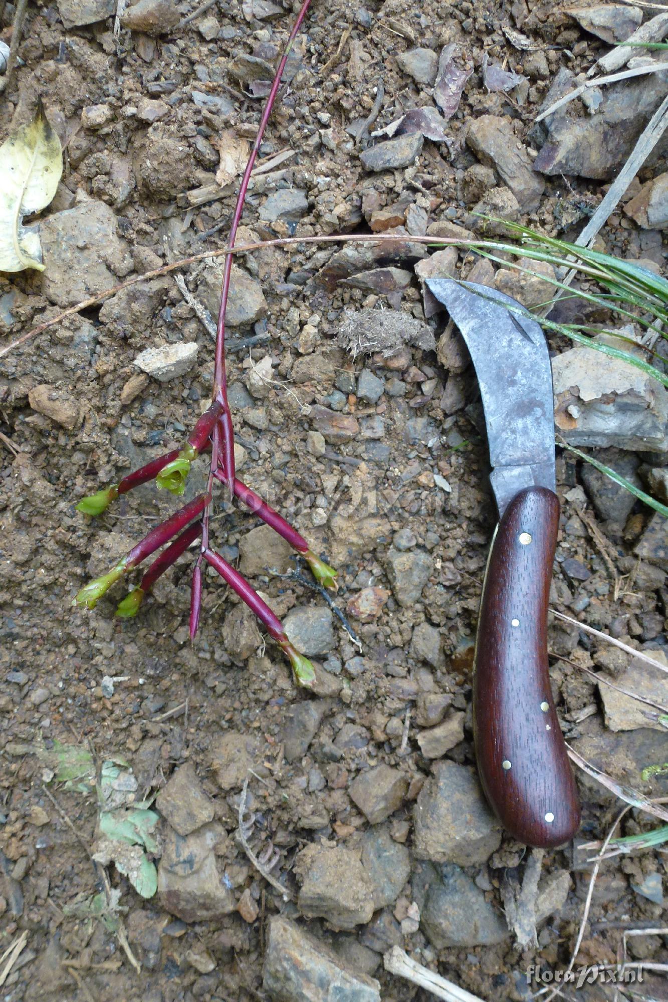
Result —
<instances>
[{"instance_id":1,"label":"curved dark reddish-brown wooden knife handle with metal rivets","mask_svg":"<svg viewBox=\"0 0 668 1002\"><path fill-rule=\"evenodd\" d=\"M578 792L550 687L548 602L559 499L530 487L491 543L475 648L473 728L482 787L518 841L548 849L580 825Z\"/></svg>"}]
</instances>

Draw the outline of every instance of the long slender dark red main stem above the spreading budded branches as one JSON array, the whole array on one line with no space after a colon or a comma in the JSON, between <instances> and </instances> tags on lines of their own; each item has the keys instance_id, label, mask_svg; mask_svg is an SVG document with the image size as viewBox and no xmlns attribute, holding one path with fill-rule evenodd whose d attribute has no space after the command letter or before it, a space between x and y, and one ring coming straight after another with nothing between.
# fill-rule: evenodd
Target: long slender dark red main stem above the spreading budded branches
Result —
<instances>
[{"instance_id":1,"label":"long slender dark red main stem above the spreading budded branches","mask_svg":"<svg viewBox=\"0 0 668 1002\"><path fill-rule=\"evenodd\" d=\"M297 15L297 19L293 25L292 31L290 32L290 37L288 39L288 44L285 47L285 51L281 58L278 68L276 70L276 75L274 76L274 81L272 83L271 90L269 91L269 96L267 97L267 103L265 104L265 109L262 113L262 118L260 119L260 125L258 127L258 134L256 135L255 142L253 143L253 149L248 158L248 163L246 164L246 170L244 171L244 176L242 177L241 184L239 186L239 195L237 196L237 205L235 206L235 214L232 218L232 225L230 226L230 236L228 237L228 246L232 248L235 245L235 239L237 238L237 229L239 228L239 222L241 220L242 212L244 211L244 202L246 201L246 194L248 192L249 181L251 180L251 173L253 172L253 167L255 166L255 161L260 150L260 144L267 127L267 122L272 113L272 108L274 106L274 101L276 100L276 95L278 89L281 85L281 77L283 76L283 70L285 69L285 64L290 55L290 50L292 49L293 42L297 37L297 32L301 28L302 21L306 17L306 12L309 9L311 0L304 0L301 10ZM214 368L214 389L212 399L215 401L220 401L227 412L226 424L224 426L224 444L223 444L223 454L225 462L225 472L227 475L227 482L230 488L230 493L233 492L234 480L235 480L235 453L234 453L234 430L232 427L232 418L230 415L230 408L228 406L228 386L227 386L227 374L225 370L225 314L228 308L228 297L230 295L230 279L232 276L232 255L227 255L225 259L225 268L223 271L223 287L221 290L221 309L218 314L218 326L216 329L216 363ZM210 481L213 475L216 473L219 465L219 453L218 447L215 444L212 458L211 458L211 474ZM205 549L204 535L202 538L203 552Z\"/></svg>"}]
</instances>

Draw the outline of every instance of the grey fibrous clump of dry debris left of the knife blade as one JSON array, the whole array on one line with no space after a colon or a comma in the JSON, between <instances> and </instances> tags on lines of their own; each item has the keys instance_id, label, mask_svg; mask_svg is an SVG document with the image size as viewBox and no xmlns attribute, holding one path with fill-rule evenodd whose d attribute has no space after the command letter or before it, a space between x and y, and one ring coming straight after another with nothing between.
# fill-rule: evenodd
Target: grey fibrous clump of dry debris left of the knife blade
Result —
<instances>
[{"instance_id":1,"label":"grey fibrous clump of dry debris left of the knife blade","mask_svg":"<svg viewBox=\"0 0 668 1002\"><path fill-rule=\"evenodd\" d=\"M404 345L431 352L436 347L433 332L409 314L389 310L357 310L346 313L337 336L339 347L353 357L379 352L388 358Z\"/></svg>"}]
</instances>

